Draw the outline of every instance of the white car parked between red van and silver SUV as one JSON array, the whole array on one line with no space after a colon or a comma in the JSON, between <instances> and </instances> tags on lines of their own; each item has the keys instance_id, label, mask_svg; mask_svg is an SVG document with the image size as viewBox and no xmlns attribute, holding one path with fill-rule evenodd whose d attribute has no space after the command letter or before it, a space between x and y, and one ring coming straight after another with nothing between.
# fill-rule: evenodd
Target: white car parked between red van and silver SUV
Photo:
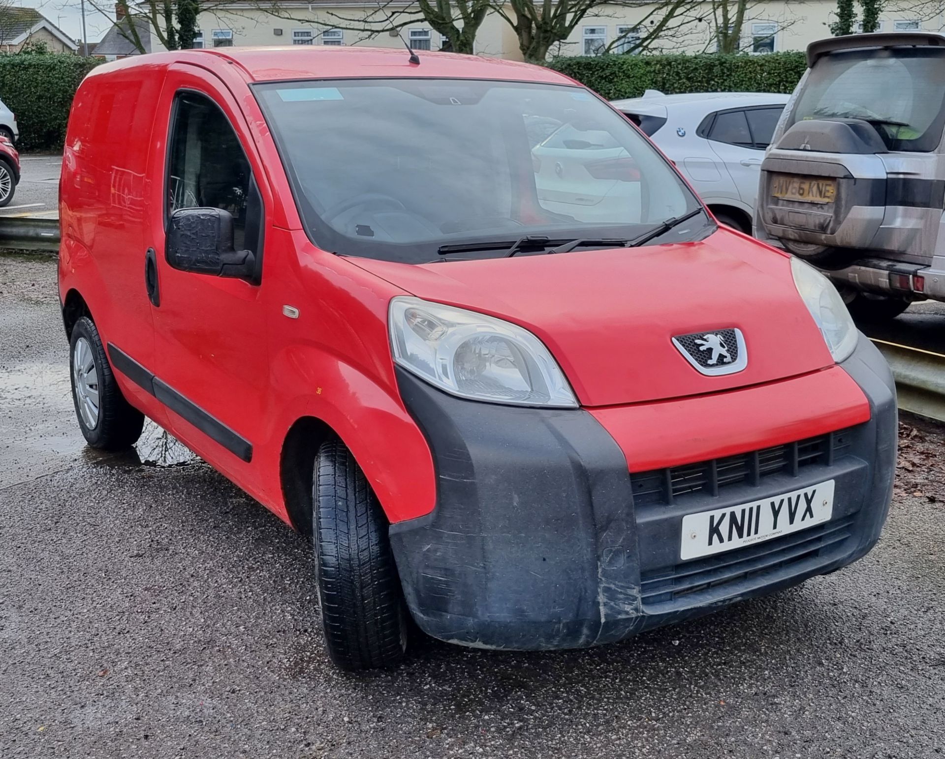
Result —
<instances>
[{"instance_id":1,"label":"white car parked between red van and silver SUV","mask_svg":"<svg viewBox=\"0 0 945 759\"><path fill-rule=\"evenodd\" d=\"M720 223L750 234L765 148L789 98L647 90L612 105L676 163Z\"/></svg>"}]
</instances>

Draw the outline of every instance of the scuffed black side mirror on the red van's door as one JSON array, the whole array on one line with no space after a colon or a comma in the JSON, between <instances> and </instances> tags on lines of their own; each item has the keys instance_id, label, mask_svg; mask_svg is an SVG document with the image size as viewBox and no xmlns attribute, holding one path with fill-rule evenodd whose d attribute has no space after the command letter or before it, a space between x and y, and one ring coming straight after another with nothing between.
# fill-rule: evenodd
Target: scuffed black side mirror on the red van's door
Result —
<instances>
[{"instance_id":1,"label":"scuffed black side mirror on the red van's door","mask_svg":"<svg viewBox=\"0 0 945 759\"><path fill-rule=\"evenodd\" d=\"M167 230L167 263L175 269L215 277L252 279L251 250L233 249L233 217L222 209L180 209Z\"/></svg>"}]
</instances>

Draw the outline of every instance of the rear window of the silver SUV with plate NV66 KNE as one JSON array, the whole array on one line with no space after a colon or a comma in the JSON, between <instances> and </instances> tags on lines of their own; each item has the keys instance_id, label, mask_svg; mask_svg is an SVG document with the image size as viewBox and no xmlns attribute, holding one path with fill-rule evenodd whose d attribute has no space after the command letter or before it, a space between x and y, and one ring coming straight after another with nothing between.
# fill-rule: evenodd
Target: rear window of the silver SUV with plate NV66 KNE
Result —
<instances>
[{"instance_id":1,"label":"rear window of the silver SUV with plate NV66 KNE","mask_svg":"<svg viewBox=\"0 0 945 759\"><path fill-rule=\"evenodd\" d=\"M935 150L945 124L945 50L848 50L818 59L789 126L806 119L862 119L889 150Z\"/></svg>"}]
</instances>

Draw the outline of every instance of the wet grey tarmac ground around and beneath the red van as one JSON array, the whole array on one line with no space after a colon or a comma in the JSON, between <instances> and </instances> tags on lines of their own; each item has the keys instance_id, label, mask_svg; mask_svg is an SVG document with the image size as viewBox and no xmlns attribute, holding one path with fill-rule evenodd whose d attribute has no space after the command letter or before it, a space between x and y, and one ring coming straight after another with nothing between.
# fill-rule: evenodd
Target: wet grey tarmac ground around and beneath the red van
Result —
<instances>
[{"instance_id":1,"label":"wet grey tarmac ground around and beneath the red van","mask_svg":"<svg viewBox=\"0 0 945 759\"><path fill-rule=\"evenodd\" d=\"M54 271L0 257L3 759L945 751L945 504L916 471L941 428L907 433L880 545L830 577L617 646L428 643L351 677L301 537L186 452L162 465L158 430L82 446Z\"/></svg>"}]
</instances>

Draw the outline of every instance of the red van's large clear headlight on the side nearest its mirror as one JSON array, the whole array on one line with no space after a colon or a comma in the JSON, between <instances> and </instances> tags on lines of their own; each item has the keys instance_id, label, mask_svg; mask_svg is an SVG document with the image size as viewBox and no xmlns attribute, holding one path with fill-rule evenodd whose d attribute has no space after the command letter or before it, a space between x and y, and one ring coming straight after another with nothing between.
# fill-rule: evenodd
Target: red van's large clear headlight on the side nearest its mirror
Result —
<instances>
[{"instance_id":1,"label":"red van's large clear headlight on the side nearest its mirror","mask_svg":"<svg viewBox=\"0 0 945 759\"><path fill-rule=\"evenodd\" d=\"M454 396L573 409L548 348L527 329L418 297L390 301L390 345L404 369Z\"/></svg>"}]
</instances>

